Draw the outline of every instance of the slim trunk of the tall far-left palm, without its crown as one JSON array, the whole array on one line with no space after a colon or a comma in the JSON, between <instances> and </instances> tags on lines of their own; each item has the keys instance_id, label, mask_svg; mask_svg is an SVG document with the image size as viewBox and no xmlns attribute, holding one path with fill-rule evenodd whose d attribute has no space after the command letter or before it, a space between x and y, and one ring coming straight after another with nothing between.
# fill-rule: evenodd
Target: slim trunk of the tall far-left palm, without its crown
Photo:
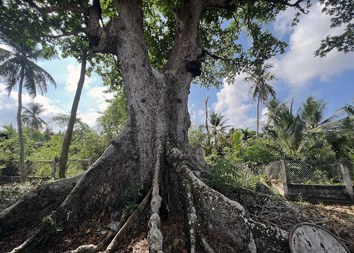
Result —
<instances>
[{"instance_id":1,"label":"slim trunk of the tall far-left palm, without its crown","mask_svg":"<svg viewBox=\"0 0 354 253\"><path fill-rule=\"evenodd\" d=\"M24 135L22 133L22 121L21 121L21 111L22 111L22 84L24 83L24 66L21 66L21 74L19 80L19 106L17 108L17 129L19 131L19 176L21 182L26 182L27 172L25 169L25 146L24 146Z\"/></svg>"}]
</instances>

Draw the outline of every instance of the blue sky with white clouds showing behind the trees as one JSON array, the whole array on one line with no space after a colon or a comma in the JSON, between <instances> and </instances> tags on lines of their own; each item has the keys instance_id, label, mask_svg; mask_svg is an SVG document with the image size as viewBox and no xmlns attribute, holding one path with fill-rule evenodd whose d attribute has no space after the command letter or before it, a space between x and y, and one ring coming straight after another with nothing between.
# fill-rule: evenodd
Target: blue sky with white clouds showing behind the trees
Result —
<instances>
[{"instance_id":1,"label":"blue sky with white clouds showing behind the trees","mask_svg":"<svg viewBox=\"0 0 354 253\"><path fill-rule=\"evenodd\" d=\"M287 10L277 17L270 29L279 38L287 41L286 53L272 59L272 73L277 80L270 84L277 91L277 97L283 101L295 101L298 108L302 101L310 95L328 101L327 115L335 113L344 103L352 103L354 95L354 53L337 53L333 51L325 58L314 57L313 53L321 39L326 35L336 35L344 28L330 29L330 17L321 13L319 4L311 8L308 15L302 15L300 23L291 27L295 12ZM39 62L39 66L48 71L57 82L57 89L48 88L46 95L37 95L35 102L44 104L46 112L41 118L50 121L57 113L69 113L75 95L77 81L80 76L80 64L75 59L56 59ZM192 122L203 124L203 100L209 96L209 111L223 113L230 118L229 124L237 128L250 127L255 129L256 106L252 105L249 89L250 84L243 82L245 75L239 75L233 85L215 88L200 88L192 86L189 96L189 113ZM14 124L16 126L17 91L8 97L0 83L0 126ZM111 94L103 93L106 88L97 75L86 77L84 90L79 106L79 117L90 126L95 125L99 111L106 109L106 99ZM23 104L30 102L30 97L24 95ZM262 115L266 113L261 106ZM263 118L265 120L265 118ZM52 125L53 127L53 125Z\"/></svg>"}]
</instances>

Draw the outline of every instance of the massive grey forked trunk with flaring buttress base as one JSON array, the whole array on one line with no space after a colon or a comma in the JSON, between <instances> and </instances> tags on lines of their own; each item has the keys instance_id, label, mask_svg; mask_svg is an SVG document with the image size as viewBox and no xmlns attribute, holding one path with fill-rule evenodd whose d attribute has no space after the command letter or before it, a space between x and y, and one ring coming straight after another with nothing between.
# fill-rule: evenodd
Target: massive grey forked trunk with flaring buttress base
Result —
<instances>
[{"instance_id":1,"label":"massive grey forked trunk with flaring buttress base","mask_svg":"<svg viewBox=\"0 0 354 253\"><path fill-rule=\"evenodd\" d=\"M215 245L223 245L224 252L288 252L286 232L252 221L239 202L208 187L199 178L207 173L207 167L189 147L187 100L192 79L200 74L198 57L202 50L193 35L197 34L202 3L183 2L170 58L161 71L156 71L149 63L141 2L117 1L115 22L119 26L111 24L114 32L110 36L116 38L122 63L129 109L127 124L50 218L13 252L38 252L38 246L48 241L50 219L60 224L65 234L75 222L88 220L93 214L103 216L112 207L122 205L120 196L136 182L144 185L145 194L149 192L147 198L151 194L150 253L162 252L160 213L168 217L173 212L185 217L190 252L215 252ZM94 21L93 16L90 21ZM99 24L89 25L92 36L100 34ZM15 214L15 209L1 215L2 221ZM112 240L110 234L107 238ZM84 245L72 252L97 252L102 247L112 252L117 244L115 239L108 247L105 243Z\"/></svg>"}]
</instances>

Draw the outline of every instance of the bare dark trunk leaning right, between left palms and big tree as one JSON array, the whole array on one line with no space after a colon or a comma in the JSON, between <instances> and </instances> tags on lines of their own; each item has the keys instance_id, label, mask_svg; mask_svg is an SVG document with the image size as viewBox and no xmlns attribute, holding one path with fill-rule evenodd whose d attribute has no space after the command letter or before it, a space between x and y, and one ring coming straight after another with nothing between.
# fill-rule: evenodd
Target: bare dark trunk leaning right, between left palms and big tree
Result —
<instances>
[{"instance_id":1,"label":"bare dark trunk leaning right, between left palms and big tree","mask_svg":"<svg viewBox=\"0 0 354 253\"><path fill-rule=\"evenodd\" d=\"M87 51L85 51L82 54L80 79L79 82L77 83L77 89L73 101L73 106L71 108L70 120L68 122L68 129L66 129L64 142L62 146L62 153L60 154L60 158L59 158L59 178L65 178L66 163L68 162L69 147L71 144L71 138L73 137L73 129L76 120L77 107L79 106L82 88L85 82L86 62L87 62Z\"/></svg>"}]
</instances>

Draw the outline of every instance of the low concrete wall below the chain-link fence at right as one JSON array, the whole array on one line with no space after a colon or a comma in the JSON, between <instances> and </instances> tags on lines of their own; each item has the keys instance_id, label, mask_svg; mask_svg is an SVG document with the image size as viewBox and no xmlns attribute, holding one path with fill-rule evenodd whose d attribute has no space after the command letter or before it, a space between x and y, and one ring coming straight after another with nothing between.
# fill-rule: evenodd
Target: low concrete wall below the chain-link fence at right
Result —
<instances>
[{"instance_id":1,"label":"low concrete wall below the chain-link fence at right","mask_svg":"<svg viewBox=\"0 0 354 253\"><path fill-rule=\"evenodd\" d=\"M303 198L322 200L350 200L344 185L293 185L288 184L288 197L297 198L301 194Z\"/></svg>"}]
</instances>

